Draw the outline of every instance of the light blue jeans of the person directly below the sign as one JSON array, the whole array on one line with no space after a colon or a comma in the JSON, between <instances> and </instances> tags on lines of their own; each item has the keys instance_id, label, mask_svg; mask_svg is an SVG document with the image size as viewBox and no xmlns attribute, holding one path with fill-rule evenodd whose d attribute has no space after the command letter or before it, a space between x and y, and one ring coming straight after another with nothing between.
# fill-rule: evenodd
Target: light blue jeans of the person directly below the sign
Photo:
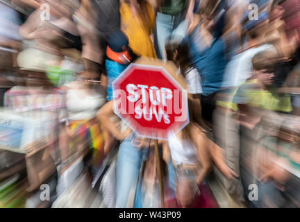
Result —
<instances>
[{"instance_id":1,"label":"light blue jeans of the person directly below the sign","mask_svg":"<svg viewBox=\"0 0 300 222\"><path fill-rule=\"evenodd\" d=\"M142 163L147 157L147 149L138 149L124 140L119 146L117 157L117 197L116 207L125 208L131 191L136 190Z\"/></svg>"}]
</instances>

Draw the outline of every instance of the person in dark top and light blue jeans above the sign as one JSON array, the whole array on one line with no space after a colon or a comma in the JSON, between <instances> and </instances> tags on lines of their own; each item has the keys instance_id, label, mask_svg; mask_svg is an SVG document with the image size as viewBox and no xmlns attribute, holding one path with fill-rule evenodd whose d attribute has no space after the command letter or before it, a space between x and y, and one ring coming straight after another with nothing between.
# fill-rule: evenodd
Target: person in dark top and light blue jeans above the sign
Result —
<instances>
[{"instance_id":1,"label":"person in dark top and light blue jeans above the sign","mask_svg":"<svg viewBox=\"0 0 300 222\"><path fill-rule=\"evenodd\" d=\"M154 44L160 59L166 59L165 43L171 39L181 42L188 35L192 23L194 0L156 0L153 1L156 13Z\"/></svg>"}]
</instances>

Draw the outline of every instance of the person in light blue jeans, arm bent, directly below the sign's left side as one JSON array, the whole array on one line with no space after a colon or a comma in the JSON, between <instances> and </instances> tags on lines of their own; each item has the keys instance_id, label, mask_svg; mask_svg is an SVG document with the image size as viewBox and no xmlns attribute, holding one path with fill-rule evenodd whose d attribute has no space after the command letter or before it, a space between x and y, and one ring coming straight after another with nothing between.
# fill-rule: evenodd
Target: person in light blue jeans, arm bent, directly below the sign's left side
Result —
<instances>
[{"instance_id":1,"label":"person in light blue jeans, arm bent, directly below the sign's left side","mask_svg":"<svg viewBox=\"0 0 300 222\"><path fill-rule=\"evenodd\" d=\"M113 112L115 101L111 100L99 110L98 119L115 139L121 141L117 154L117 191L115 207L125 208L135 205L135 192L142 170L147 160L153 139L139 137ZM140 196L138 197L140 198Z\"/></svg>"}]
</instances>

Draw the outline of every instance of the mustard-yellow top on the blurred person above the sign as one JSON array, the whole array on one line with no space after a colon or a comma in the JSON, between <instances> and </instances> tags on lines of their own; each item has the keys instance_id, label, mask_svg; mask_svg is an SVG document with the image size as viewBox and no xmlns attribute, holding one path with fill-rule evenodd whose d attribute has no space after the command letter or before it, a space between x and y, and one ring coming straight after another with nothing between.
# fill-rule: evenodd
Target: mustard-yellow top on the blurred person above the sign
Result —
<instances>
[{"instance_id":1,"label":"mustard-yellow top on the blurred person above the sign","mask_svg":"<svg viewBox=\"0 0 300 222\"><path fill-rule=\"evenodd\" d=\"M134 15L128 3L122 3L119 10L122 17L122 31L126 33L132 51L138 56L156 58L156 51L150 38L155 18L149 3L147 4L149 22L146 15L142 17Z\"/></svg>"}]
</instances>

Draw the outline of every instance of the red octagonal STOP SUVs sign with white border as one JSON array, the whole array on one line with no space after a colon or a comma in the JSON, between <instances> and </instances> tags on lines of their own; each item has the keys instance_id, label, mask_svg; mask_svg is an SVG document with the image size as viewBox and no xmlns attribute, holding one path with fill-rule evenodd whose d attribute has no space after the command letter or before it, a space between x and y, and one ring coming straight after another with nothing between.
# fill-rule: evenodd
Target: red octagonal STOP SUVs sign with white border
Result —
<instances>
[{"instance_id":1,"label":"red octagonal STOP SUVs sign with white border","mask_svg":"<svg viewBox=\"0 0 300 222\"><path fill-rule=\"evenodd\" d=\"M132 63L113 82L114 112L139 136L167 139L189 123L188 92L173 63L153 61Z\"/></svg>"}]
</instances>

